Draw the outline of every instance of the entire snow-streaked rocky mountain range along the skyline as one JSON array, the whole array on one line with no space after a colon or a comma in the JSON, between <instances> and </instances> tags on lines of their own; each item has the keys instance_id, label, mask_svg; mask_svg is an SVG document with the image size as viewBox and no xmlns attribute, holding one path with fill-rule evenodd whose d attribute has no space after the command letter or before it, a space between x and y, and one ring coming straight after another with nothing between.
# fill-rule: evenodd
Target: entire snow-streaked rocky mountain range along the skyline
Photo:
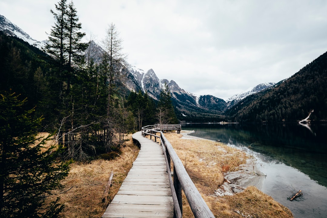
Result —
<instances>
[{"instance_id":1,"label":"entire snow-streaked rocky mountain range along the skyline","mask_svg":"<svg viewBox=\"0 0 327 218\"><path fill-rule=\"evenodd\" d=\"M4 16L0 15L0 30L9 36L18 37L29 44L43 50L46 41L36 41L32 39L26 32L24 32L17 25L12 24ZM101 55L105 52L103 48L94 41L89 42L89 47L85 51L86 59L93 59L96 63L101 61ZM138 92L139 90L147 92L153 99L158 100L163 84L166 83L171 91L173 103L183 117L187 116L188 111L195 111L200 109L205 113L220 113L227 108L232 107L238 101L248 95L262 91L274 83L260 84L249 92L242 92L233 95L227 102L221 98L212 95L195 95L180 88L174 80L159 79L153 69L146 72L135 66L131 66L126 61L121 63L121 73L124 75L124 85L130 91Z\"/></svg>"}]
</instances>

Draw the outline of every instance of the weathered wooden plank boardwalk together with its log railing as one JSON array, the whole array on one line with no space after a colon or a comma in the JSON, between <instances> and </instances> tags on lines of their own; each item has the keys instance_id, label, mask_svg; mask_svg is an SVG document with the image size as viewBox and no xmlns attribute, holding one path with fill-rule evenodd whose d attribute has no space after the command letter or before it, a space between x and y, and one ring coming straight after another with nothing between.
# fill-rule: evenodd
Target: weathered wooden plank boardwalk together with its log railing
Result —
<instances>
[{"instance_id":1,"label":"weathered wooden plank boardwalk together with its log railing","mask_svg":"<svg viewBox=\"0 0 327 218\"><path fill-rule=\"evenodd\" d=\"M163 130L180 132L181 125L165 126L146 126L133 134L133 141L141 150L102 218L181 218L182 190L195 218L214 218L181 160L163 135ZM146 135L150 139L143 137ZM160 143L156 142L157 138Z\"/></svg>"}]
</instances>

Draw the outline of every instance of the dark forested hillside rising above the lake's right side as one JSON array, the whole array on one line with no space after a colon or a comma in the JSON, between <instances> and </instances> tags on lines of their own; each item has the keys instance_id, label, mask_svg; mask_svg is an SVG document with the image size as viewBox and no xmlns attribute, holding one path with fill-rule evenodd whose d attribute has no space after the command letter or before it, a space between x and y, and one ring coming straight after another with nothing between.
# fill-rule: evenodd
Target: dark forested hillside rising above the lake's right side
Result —
<instances>
[{"instance_id":1,"label":"dark forested hillside rising above the lake's right side","mask_svg":"<svg viewBox=\"0 0 327 218\"><path fill-rule=\"evenodd\" d=\"M273 88L250 95L226 111L237 122L292 122L311 114L310 120L327 120L327 53Z\"/></svg>"}]
</instances>

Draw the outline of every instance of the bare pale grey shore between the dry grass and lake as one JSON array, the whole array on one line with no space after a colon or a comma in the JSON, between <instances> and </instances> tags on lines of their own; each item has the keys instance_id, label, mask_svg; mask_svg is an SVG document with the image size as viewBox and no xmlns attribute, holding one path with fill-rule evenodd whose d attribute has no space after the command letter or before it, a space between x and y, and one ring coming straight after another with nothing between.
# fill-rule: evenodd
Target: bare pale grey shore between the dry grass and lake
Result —
<instances>
[{"instance_id":1,"label":"bare pale grey shore between the dry grass and lake","mask_svg":"<svg viewBox=\"0 0 327 218\"><path fill-rule=\"evenodd\" d=\"M181 139L188 140L209 140L204 138L199 138L195 136L190 136L188 134L193 133L193 130L181 130ZM213 141L213 140L209 140ZM236 148L238 149L238 148ZM238 149L241 150L241 149ZM234 193L239 193L244 191L248 186L255 186L257 189L261 190L263 186L263 180L265 175L258 169L257 162L254 156L245 152L250 158L247 159L246 164L240 165L240 169L234 172L224 173L224 178L231 183L224 180L224 183L221 184L215 194L218 196L224 195L233 195Z\"/></svg>"}]
</instances>

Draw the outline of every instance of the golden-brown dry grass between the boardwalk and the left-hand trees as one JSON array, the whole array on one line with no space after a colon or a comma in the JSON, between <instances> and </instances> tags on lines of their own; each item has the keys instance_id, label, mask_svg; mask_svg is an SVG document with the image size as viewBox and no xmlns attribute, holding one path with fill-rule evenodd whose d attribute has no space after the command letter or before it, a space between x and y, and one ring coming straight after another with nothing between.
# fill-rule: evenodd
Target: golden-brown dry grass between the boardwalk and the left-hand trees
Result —
<instances>
[{"instance_id":1,"label":"golden-brown dry grass between the boardwalk and the left-hand trees","mask_svg":"<svg viewBox=\"0 0 327 218\"><path fill-rule=\"evenodd\" d=\"M111 202L120 185L127 176L139 148L131 139L122 147L122 154L113 160L93 160L90 163L75 162L71 165L69 175L62 181L63 189L55 190L52 197L60 197L60 203L65 205L60 217L64 218L95 218L101 217L108 203L102 203L101 198L113 171L112 186L108 202Z\"/></svg>"}]
</instances>

